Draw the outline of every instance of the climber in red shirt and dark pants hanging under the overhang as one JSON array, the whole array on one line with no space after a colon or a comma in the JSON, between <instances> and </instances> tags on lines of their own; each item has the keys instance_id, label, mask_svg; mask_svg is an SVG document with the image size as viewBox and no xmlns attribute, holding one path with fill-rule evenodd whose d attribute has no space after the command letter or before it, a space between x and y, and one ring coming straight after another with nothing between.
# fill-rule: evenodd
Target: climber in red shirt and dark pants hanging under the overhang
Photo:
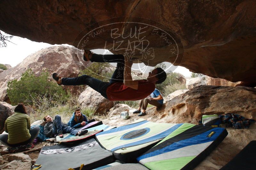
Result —
<instances>
[{"instance_id":1,"label":"climber in red shirt and dark pants hanging under the overhang","mask_svg":"<svg viewBox=\"0 0 256 170\"><path fill-rule=\"evenodd\" d=\"M144 99L155 90L156 84L160 84L166 79L165 71L157 67L149 72L147 80L132 80L132 61L130 61L129 57L122 54L101 55L85 50L84 60L90 60L91 62L116 62L117 66L109 82L103 82L85 74L74 78L62 78L57 73L53 73L52 78L57 81L58 85L88 85L110 101Z\"/></svg>"}]
</instances>

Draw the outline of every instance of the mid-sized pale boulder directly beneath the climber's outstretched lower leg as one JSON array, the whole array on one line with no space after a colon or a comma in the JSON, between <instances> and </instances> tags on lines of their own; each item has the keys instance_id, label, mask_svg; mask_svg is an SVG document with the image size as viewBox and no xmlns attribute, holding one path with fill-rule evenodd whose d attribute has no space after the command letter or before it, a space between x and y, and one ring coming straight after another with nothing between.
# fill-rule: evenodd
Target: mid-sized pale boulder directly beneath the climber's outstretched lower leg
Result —
<instances>
[{"instance_id":1,"label":"mid-sized pale boulder directly beneath the climber's outstretched lower leg","mask_svg":"<svg viewBox=\"0 0 256 170\"><path fill-rule=\"evenodd\" d=\"M98 113L104 113L114 106L113 101L109 101L90 87L87 87L84 92L80 94L78 102L82 107L98 107Z\"/></svg>"}]
</instances>

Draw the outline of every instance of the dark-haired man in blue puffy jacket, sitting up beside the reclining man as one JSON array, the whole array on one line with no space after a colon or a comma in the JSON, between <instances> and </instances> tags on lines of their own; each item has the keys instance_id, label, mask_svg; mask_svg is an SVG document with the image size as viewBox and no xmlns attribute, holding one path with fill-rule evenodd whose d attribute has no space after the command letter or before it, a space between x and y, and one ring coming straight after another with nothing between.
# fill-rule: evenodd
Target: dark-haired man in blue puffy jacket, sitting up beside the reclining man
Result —
<instances>
[{"instance_id":1,"label":"dark-haired man in blue puffy jacket, sitting up beside the reclining man","mask_svg":"<svg viewBox=\"0 0 256 170\"><path fill-rule=\"evenodd\" d=\"M81 113L80 109L76 109L73 113L73 116L68 121L68 126L72 128L80 128L85 126L85 124L88 124L86 116Z\"/></svg>"}]
</instances>

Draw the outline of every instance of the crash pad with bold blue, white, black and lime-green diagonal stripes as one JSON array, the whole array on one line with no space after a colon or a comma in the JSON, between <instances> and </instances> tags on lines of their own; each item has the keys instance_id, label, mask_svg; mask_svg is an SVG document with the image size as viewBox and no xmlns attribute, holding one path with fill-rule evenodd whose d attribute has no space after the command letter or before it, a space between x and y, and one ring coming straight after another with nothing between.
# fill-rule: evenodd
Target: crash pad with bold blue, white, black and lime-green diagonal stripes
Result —
<instances>
[{"instance_id":1,"label":"crash pad with bold blue, white, black and lime-green diagonal stripes","mask_svg":"<svg viewBox=\"0 0 256 170\"><path fill-rule=\"evenodd\" d=\"M225 128L176 124L172 132L137 160L152 170L193 169L228 135Z\"/></svg>"}]
</instances>

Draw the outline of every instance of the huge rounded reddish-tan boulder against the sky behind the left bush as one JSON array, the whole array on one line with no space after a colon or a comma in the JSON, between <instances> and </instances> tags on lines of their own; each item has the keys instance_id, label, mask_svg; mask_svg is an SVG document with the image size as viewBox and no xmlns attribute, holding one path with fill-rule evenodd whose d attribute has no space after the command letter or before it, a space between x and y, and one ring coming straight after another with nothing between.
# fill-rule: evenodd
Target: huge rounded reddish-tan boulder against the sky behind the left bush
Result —
<instances>
[{"instance_id":1,"label":"huge rounded reddish-tan boulder against the sky behind the left bush","mask_svg":"<svg viewBox=\"0 0 256 170\"><path fill-rule=\"evenodd\" d=\"M8 100L8 81L19 80L21 74L29 68L36 75L47 69L50 80L52 80L52 73L58 73L64 77L76 77L79 71L85 69L89 63L85 62L82 56L82 51L76 52L76 48L68 46L52 46L29 55L17 66L4 70L0 74L0 101ZM78 86L66 86L65 88L76 91Z\"/></svg>"}]
</instances>

